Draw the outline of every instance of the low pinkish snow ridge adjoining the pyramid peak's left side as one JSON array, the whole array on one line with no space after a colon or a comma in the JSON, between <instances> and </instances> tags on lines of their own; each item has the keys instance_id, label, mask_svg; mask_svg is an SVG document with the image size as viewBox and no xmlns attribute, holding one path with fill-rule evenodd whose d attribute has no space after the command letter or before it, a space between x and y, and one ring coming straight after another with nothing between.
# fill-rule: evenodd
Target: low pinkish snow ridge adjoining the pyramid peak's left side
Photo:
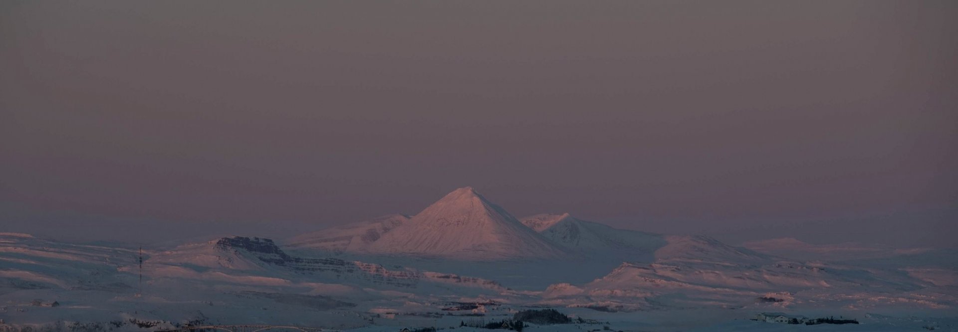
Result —
<instances>
[{"instance_id":1,"label":"low pinkish snow ridge adjoining the pyramid peak's left side","mask_svg":"<svg viewBox=\"0 0 958 332\"><path fill-rule=\"evenodd\" d=\"M351 223L340 227L308 232L286 242L291 247L321 249L333 252L360 252L382 234L392 231L409 220L408 215L389 214L373 220Z\"/></svg>"}]
</instances>

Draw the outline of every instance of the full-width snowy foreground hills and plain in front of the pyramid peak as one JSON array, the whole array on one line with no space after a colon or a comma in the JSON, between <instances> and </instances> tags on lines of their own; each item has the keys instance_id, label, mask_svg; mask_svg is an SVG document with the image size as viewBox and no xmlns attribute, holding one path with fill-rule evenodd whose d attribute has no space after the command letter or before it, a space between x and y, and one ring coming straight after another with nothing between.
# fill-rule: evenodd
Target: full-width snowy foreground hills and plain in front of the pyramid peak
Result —
<instances>
[{"instance_id":1,"label":"full-width snowy foreground hills and plain in front of the pyramid peak","mask_svg":"<svg viewBox=\"0 0 958 332\"><path fill-rule=\"evenodd\" d=\"M954 272L949 270L806 263L755 254L703 236L661 239L666 243L652 251L654 261L601 268L562 259L344 259L351 255L287 251L269 239L229 236L171 250L147 249L141 270L136 250L0 233L0 317L13 326L58 320L125 324L118 331L137 330L132 321L147 321L152 329L187 321L344 329L402 326L391 322L394 316L432 324L437 312L446 313L440 320L454 326L464 320L456 315L500 319L528 306L621 321L639 313L684 309L744 309L723 310L717 316L728 319L747 318L756 311L830 315L834 308L842 308L843 314L884 307L942 313L958 305L955 284L948 281ZM420 263L431 267L416 266ZM480 275L463 273L464 267L484 275L467 277ZM566 280L583 273L595 277L510 288L516 277L541 271ZM862 317L860 312L857 317ZM157 325L150 325L154 322Z\"/></svg>"}]
</instances>

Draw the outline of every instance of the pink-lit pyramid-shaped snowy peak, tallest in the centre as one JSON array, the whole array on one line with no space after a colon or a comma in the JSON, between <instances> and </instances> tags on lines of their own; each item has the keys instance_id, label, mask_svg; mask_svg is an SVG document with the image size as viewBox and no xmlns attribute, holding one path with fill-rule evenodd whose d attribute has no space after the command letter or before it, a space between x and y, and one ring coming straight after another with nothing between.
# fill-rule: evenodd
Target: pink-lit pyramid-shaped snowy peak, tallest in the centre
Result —
<instances>
[{"instance_id":1,"label":"pink-lit pyramid-shaped snowy peak, tallest in the centre","mask_svg":"<svg viewBox=\"0 0 958 332\"><path fill-rule=\"evenodd\" d=\"M376 254L495 260L563 252L472 188L458 188L367 249Z\"/></svg>"}]
</instances>

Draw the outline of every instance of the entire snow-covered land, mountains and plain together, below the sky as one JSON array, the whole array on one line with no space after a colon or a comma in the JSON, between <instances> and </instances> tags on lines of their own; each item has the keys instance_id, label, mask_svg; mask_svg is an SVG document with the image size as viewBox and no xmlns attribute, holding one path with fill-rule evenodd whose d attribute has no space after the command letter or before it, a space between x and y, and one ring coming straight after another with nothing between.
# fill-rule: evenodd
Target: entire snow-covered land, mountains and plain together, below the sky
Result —
<instances>
[{"instance_id":1,"label":"entire snow-covered land, mountains and plain together, below the sky","mask_svg":"<svg viewBox=\"0 0 958 332\"><path fill-rule=\"evenodd\" d=\"M461 321L540 308L592 323L531 331L958 329L951 251L795 239L736 247L702 235L617 230L569 213L516 218L472 188L413 216L289 239L148 245L142 268L140 256L135 246L0 233L0 330L194 323L469 331L476 329ZM860 323L750 320L762 312Z\"/></svg>"}]
</instances>

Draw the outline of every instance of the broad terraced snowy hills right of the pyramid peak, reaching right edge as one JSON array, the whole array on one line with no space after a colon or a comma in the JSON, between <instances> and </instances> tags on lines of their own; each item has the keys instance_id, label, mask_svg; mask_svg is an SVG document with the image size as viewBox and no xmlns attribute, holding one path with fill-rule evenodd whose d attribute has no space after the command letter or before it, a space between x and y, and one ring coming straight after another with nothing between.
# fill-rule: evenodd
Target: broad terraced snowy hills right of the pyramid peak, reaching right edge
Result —
<instances>
[{"instance_id":1,"label":"broad terraced snowy hills right of the pyramid peak, reaching right edge","mask_svg":"<svg viewBox=\"0 0 958 332\"><path fill-rule=\"evenodd\" d=\"M958 299L951 290L954 271L794 261L701 235L665 239L668 244L654 252L654 261L625 262L585 284L550 285L542 304L634 311L854 300L858 305L909 302L943 308Z\"/></svg>"}]
</instances>

